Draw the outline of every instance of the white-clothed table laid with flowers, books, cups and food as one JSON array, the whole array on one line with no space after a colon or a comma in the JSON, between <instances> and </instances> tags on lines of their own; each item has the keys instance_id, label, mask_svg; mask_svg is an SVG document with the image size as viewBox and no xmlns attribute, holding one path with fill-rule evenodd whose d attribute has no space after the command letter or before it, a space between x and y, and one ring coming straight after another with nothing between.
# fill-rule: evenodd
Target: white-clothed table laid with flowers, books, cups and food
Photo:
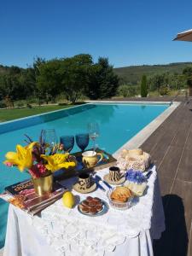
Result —
<instances>
[{"instance_id":1,"label":"white-clothed table laid with flowers, books, cups and food","mask_svg":"<svg viewBox=\"0 0 192 256\"><path fill-rule=\"evenodd\" d=\"M153 240L165 230L165 218L148 153L125 148L114 159L92 148L80 158L65 153L61 161L62 153L46 156L42 142L18 150L28 157L34 152L36 162L29 167L32 180L1 195L10 202L4 256L153 255ZM6 157L7 166L18 166L13 154ZM44 166L51 171L61 165L64 174L73 175L39 174Z\"/></svg>"}]
</instances>

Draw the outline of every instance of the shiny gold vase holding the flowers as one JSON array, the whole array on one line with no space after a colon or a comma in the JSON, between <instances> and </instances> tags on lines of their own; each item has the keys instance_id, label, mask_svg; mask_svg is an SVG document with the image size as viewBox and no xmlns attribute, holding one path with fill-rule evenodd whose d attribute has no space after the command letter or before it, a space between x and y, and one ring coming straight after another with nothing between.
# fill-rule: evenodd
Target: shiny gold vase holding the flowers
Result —
<instances>
[{"instance_id":1,"label":"shiny gold vase holding the flowers","mask_svg":"<svg viewBox=\"0 0 192 256\"><path fill-rule=\"evenodd\" d=\"M35 193L37 195L45 195L52 192L53 175L52 173L45 177L32 178Z\"/></svg>"}]
</instances>

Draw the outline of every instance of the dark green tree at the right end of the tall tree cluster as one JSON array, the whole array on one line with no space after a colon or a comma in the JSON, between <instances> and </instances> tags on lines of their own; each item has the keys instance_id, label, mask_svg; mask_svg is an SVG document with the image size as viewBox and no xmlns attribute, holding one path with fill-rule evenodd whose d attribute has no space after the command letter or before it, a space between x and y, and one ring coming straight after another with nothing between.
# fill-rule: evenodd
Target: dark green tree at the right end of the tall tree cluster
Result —
<instances>
[{"instance_id":1,"label":"dark green tree at the right end of the tall tree cluster","mask_svg":"<svg viewBox=\"0 0 192 256\"><path fill-rule=\"evenodd\" d=\"M119 87L119 77L113 73L113 66L108 58L100 57L90 68L89 83L85 90L86 96L96 100L115 96Z\"/></svg>"}]
</instances>

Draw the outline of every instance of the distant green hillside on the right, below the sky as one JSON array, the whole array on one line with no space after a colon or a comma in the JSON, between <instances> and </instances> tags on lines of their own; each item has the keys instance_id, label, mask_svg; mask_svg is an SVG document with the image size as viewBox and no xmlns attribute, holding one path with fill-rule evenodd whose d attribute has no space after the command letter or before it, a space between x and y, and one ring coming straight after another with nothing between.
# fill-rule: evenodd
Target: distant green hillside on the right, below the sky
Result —
<instances>
[{"instance_id":1,"label":"distant green hillside on the right, below the sky","mask_svg":"<svg viewBox=\"0 0 192 256\"><path fill-rule=\"evenodd\" d=\"M137 84L143 74L152 76L157 73L182 73L184 67L191 66L192 62L178 62L166 65L143 65L143 66L130 66L114 68L114 72L119 75L121 84Z\"/></svg>"}]
</instances>

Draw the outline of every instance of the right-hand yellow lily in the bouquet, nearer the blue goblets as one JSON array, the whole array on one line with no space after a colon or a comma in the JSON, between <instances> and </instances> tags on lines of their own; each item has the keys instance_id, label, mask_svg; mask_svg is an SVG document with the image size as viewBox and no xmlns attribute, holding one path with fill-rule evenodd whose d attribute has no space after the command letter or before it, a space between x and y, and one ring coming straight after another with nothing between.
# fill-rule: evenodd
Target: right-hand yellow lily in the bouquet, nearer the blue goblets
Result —
<instances>
[{"instance_id":1,"label":"right-hand yellow lily in the bouquet, nearer the blue goblets","mask_svg":"<svg viewBox=\"0 0 192 256\"><path fill-rule=\"evenodd\" d=\"M53 154L53 155L45 155L41 154L41 157L44 160L48 161L48 164L45 167L51 171L55 172L62 168L68 169L69 167L74 167L75 162L67 162L67 157L69 154Z\"/></svg>"}]
</instances>

